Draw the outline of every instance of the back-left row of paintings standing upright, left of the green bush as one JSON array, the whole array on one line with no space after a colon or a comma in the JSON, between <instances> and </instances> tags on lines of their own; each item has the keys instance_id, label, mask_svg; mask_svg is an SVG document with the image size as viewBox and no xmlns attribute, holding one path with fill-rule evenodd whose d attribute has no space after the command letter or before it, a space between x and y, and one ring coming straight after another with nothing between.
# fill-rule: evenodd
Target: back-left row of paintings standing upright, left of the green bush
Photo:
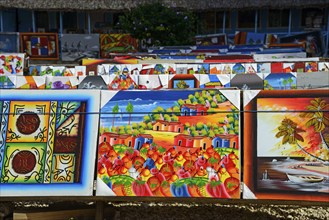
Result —
<instances>
[{"instance_id":1,"label":"back-left row of paintings standing upright, left of the green bush","mask_svg":"<svg viewBox=\"0 0 329 220\"><path fill-rule=\"evenodd\" d=\"M0 34L0 52L22 52L30 59L78 62L82 58L108 58L110 53L133 53L137 49L138 41L129 34Z\"/></svg>"}]
</instances>

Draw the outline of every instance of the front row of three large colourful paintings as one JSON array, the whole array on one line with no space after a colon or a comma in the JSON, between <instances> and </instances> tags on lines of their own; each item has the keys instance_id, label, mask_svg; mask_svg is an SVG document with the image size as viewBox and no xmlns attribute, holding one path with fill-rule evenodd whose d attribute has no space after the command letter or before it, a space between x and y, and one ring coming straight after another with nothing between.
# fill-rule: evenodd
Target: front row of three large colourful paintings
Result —
<instances>
[{"instance_id":1,"label":"front row of three large colourful paintings","mask_svg":"<svg viewBox=\"0 0 329 220\"><path fill-rule=\"evenodd\" d=\"M1 92L2 196L329 202L328 89Z\"/></svg>"}]
</instances>

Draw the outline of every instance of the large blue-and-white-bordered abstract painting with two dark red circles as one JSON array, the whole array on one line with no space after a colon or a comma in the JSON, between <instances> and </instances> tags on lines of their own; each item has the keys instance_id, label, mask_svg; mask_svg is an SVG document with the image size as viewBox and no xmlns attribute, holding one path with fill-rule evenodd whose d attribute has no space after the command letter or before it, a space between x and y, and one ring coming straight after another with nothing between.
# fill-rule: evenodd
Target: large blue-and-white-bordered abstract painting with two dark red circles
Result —
<instances>
[{"instance_id":1,"label":"large blue-and-white-bordered abstract painting with two dark red circles","mask_svg":"<svg viewBox=\"0 0 329 220\"><path fill-rule=\"evenodd\" d=\"M1 196L90 196L99 91L1 91Z\"/></svg>"}]
</instances>

